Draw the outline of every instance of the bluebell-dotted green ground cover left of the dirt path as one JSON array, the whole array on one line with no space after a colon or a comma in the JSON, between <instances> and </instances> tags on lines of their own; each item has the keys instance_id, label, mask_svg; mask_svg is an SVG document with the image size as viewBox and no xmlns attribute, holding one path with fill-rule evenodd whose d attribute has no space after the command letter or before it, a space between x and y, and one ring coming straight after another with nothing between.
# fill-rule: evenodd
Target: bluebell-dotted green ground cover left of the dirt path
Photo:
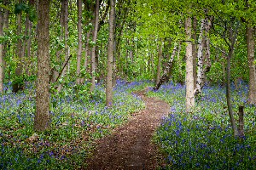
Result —
<instances>
[{"instance_id":1,"label":"bluebell-dotted green ground cover left of the dirt path","mask_svg":"<svg viewBox=\"0 0 256 170\"><path fill-rule=\"evenodd\" d=\"M10 84L0 95L0 169L77 169L85 167L93 142L127 121L131 112L144 108L142 99L131 94L144 82L117 82L113 107L105 106L105 88L94 94L76 95L73 83L63 93L51 96L51 128L35 133L35 90L12 94Z\"/></svg>"}]
</instances>

